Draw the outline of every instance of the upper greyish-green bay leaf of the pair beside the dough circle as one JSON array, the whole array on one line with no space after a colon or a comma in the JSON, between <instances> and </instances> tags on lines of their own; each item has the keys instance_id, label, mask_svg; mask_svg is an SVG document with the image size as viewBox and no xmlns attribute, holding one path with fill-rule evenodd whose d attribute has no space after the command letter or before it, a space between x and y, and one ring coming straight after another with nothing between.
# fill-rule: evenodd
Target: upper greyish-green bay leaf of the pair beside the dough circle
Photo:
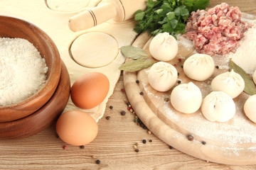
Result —
<instances>
[{"instance_id":1,"label":"upper greyish-green bay leaf of the pair beside the dough circle","mask_svg":"<svg viewBox=\"0 0 256 170\"><path fill-rule=\"evenodd\" d=\"M144 50L139 47L132 47L132 45L123 46L120 48L125 57L133 60L146 59L149 57Z\"/></svg>"}]
</instances>

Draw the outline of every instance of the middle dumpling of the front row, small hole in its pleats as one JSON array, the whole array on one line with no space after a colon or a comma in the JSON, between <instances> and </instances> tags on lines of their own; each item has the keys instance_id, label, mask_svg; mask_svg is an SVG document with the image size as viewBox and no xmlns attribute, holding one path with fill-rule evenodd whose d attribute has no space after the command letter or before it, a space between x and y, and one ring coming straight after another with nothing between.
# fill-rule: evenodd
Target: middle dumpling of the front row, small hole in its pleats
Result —
<instances>
[{"instance_id":1,"label":"middle dumpling of the front row, small hole in its pleats","mask_svg":"<svg viewBox=\"0 0 256 170\"><path fill-rule=\"evenodd\" d=\"M210 121L226 122L235 115L235 103L223 91L212 91L203 99L201 111Z\"/></svg>"}]
</instances>

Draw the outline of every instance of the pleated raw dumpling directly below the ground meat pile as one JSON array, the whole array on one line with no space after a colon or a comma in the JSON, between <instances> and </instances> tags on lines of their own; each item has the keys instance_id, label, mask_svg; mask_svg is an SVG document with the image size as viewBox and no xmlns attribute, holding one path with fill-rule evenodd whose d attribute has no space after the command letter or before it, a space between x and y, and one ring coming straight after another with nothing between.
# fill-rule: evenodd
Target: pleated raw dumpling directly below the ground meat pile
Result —
<instances>
[{"instance_id":1,"label":"pleated raw dumpling directly below the ground meat pile","mask_svg":"<svg viewBox=\"0 0 256 170\"><path fill-rule=\"evenodd\" d=\"M215 64L210 55L191 55L183 64L186 76L197 81L208 79L213 74L214 69Z\"/></svg>"}]
</instances>

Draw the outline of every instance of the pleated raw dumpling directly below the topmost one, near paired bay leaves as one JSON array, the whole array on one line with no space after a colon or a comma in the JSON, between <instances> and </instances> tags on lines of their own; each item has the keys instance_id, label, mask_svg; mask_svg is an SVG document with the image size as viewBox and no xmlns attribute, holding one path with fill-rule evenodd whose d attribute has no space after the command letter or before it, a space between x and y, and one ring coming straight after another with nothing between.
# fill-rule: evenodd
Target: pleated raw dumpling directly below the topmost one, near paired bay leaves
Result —
<instances>
[{"instance_id":1,"label":"pleated raw dumpling directly below the topmost one, near paired bay leaves","mask_svg":"<svg viewBox=\"0 0 256 170\"><path fill-rule=\"evenodd\" d=\"M167 62L156 62L149 69L149 84L157 91L169 91L177 78L176 68Z\"/></svg>"}]
</instances>

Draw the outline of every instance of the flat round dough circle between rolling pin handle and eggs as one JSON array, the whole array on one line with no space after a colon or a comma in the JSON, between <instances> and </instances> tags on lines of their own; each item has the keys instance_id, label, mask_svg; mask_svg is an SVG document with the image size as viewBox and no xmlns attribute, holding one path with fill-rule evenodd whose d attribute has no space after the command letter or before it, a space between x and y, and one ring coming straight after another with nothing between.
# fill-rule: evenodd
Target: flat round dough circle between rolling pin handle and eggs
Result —
<instances>
[{"instance_id":1,"label":"flat round dough circle between rolling pin handle and eggs","mask_svg":"<svg viewBox=\"0 0 256 170\"><path fill-rule=\"evenodd\" d=\"M106 33L85 33L76 38L70 47L75 62L89 67L104 67L117 57L118 42Z\"/></svg>"}]
</instances>

